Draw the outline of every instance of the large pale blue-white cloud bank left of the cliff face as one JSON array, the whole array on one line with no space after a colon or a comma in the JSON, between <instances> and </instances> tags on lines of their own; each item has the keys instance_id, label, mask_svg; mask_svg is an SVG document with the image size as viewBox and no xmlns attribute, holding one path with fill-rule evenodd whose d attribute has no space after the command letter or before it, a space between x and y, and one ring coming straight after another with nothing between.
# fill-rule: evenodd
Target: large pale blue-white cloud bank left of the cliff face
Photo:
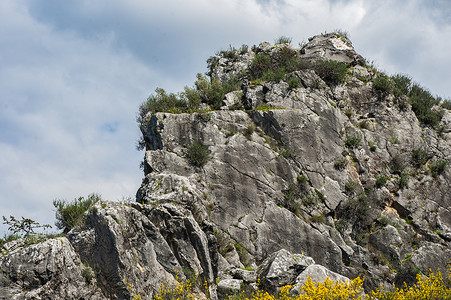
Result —
<instances>
[{"instance_id":1,"label":"large pale blue-white cloud bank left of the cliff face","mask_svg":"<svg viewBox=\"0 0 451 300\"><path fill-rule=\"evenodd\" d=\"M0 41L1 214L53 223L55 198L133 196L137 107L165 79L114 50L110 37L57 32L19 2L1 5L0 27L14 25Z\"/></svg>"}]
</instances>

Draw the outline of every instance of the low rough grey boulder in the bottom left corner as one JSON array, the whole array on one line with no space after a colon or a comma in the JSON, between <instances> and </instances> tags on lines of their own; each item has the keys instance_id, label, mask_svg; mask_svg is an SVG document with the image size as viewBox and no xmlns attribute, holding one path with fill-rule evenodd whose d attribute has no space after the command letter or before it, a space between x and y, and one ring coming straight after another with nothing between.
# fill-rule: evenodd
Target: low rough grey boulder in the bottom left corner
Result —
<instances>
[{"instance_id":1,"label":"low rough grey boulder in the bottom left corner","mask_svg":"<svg viewBox=\"0 0 451 300\"><path fill-rule=\"evenodd\" d=\"M0 256L0 299L104 299L67 238L15 245Z\"/></svg>"}]
</instances>

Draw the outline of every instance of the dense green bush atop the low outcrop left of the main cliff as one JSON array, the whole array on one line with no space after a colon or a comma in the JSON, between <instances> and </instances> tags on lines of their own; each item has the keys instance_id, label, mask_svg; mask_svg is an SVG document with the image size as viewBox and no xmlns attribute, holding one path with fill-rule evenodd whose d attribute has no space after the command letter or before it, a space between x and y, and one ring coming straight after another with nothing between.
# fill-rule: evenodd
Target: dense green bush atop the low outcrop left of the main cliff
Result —
<instances>
[{"instance_id":1,"label":"dense green bush atop the low outcrop left of the main cliff","mask_svg":"<svg viewBox=\"0 0 451 300\"><path fill-rule=\"evenodd\" d=\"M72 228L81 226L85 220L85 213L100 200L102 199L97 194L90 194L87 198L75 198L73 201L54 200L53 206L56 208L56 227L63 229L67 233Z\"/></svg>"}]
</instances>

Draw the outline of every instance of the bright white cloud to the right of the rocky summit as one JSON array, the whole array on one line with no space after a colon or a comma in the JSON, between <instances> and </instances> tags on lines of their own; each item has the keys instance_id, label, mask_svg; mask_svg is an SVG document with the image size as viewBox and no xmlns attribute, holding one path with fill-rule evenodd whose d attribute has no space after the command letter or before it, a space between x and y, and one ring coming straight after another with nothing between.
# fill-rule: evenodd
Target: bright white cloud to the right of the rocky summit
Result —
<instances>
[{"instance_id":1,"label":"bright white cloud to the right of the rocky summit","mask_svg":"<svg viewBox=\"0 0 451 300\"><path fill-rule=\"evenodd\" d=\"M433 93L451 95L450 24L432 18L424 1L377 2L368 11L352 32L357 51L389 73L407 73Z\"/></svg>"}]
</instances>

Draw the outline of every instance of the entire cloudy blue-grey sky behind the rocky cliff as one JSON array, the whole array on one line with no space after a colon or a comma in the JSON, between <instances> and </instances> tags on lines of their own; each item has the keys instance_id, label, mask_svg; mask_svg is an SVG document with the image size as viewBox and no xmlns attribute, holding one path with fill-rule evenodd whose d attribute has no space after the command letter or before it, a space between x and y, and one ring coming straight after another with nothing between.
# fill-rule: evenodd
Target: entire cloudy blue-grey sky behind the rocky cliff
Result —
<instances>
[{"instance_id":1,"label":"entire cloudy blue-grey sky behind the rocky cliff","mask_svg":"<svg viewBox=\"0 0 451 300\"><path fill-rule=\"evenodd\" d=\"M134 197L136 112L156 87L191 86L229 45L334 29L451 96L448 0L0 0L0 215L53 225L54 199Z\"/></svg>"}]
</instances>

